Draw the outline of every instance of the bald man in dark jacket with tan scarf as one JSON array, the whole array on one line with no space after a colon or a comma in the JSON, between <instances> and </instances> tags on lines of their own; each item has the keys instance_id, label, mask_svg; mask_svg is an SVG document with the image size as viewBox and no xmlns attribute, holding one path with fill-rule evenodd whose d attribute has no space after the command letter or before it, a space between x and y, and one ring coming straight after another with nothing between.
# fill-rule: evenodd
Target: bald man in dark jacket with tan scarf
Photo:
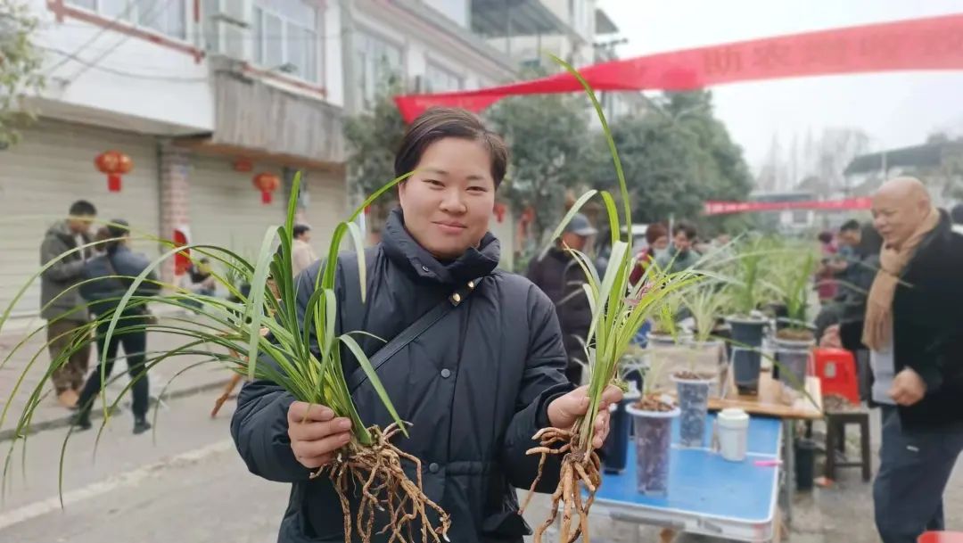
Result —
<instances>
[{"instance_id":1,"label":"bald man in dark jacket with tan scarf","mask_svg":"<svg viewBox=\"0 0 963 543\"><path fill-rule=\"evenodd\" d=\"M913 178L884 184L872 213L885 244L862 334L883 409L876 527L884 543L913 543L943 530L943 491L963 451L963 228Z\"/></svg>"}]
</instances>

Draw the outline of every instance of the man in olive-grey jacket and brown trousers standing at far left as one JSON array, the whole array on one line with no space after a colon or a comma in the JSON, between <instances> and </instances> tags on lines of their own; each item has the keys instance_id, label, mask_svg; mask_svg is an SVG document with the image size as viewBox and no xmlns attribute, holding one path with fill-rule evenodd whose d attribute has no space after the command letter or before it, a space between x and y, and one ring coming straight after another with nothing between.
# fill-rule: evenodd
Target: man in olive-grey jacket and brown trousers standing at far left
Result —
<instances>
[{"instance_id":1,"label":"man in olive-grey jacket and brown trousers standing at far left","mask_svg":"<svg viewBox=\"0 0 963 543\"><path fill-rule=\"evenodd\" d=\"M89 322L84 300L76 285L82 279L84 264L91 257L90 247L61 256L79 246L91 243L91 222L97 211L91 202L78 200L70 206L69 218L53 224L40 244L40 265L47 266L40 274L40 317L47 321L47 341L50 358L55 359L73 341L79 329ZM90 335L90 332L87 332ZM89 342L84 342L89 346ZM54 372L52 380L57 400L65 407L74 407L90 362L91 349L78 349L65 365Z\"/></svg>"}]
</instances>

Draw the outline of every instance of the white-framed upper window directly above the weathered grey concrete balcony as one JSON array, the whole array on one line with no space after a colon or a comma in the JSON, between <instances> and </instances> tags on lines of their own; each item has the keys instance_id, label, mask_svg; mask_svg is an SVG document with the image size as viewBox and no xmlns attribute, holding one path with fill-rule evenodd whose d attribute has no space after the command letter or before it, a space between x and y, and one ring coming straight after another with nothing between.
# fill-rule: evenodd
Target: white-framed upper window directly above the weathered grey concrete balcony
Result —
<instances>
[{"instance_id":1,"label":"white-framed upper window directly above the weathered grey concrete balcony","mask_svg":"<svg viewBox=\"0 0 963 543\"><path fill-rule=\"evenodd\" d=\"M318 10L303 0L255 0L254 62L318 82Z\"/></svg>"}]
</instances>

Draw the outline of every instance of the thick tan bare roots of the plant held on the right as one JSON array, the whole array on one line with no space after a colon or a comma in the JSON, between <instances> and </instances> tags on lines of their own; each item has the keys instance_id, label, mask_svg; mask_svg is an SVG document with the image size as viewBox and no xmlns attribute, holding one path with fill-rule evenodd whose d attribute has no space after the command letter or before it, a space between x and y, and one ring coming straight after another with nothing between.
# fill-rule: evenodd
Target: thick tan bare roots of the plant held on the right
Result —
<instances>
[{"instance_id":1,"label":"thick tan bare roots of the plant held on the right","mask_svg":"<svg viewBox=\"0 0 963 543\"><path fill-rule=\"evenodd\" d=\"M595 491L602 483L601 461L598 454L579 447L579 434L560 428L542 428L534 435L539 440L539 446L530 449L529 454L541 454L538 462L538 475L529 489L519 514L529 506L534 495L535 487L542 477L542 469L550 454L564 454L561 458L561 478L559 487L552 494L552 506L549 518L535 529L534 543L541 543L545 530L555 522L561 506L560 543L574 543L580 536L588 541L588 509L595 501ZM588 496L583 502L582 492L585 489ZM573 523L578 515L578 522Z\"/></svg>"}]
</instances>

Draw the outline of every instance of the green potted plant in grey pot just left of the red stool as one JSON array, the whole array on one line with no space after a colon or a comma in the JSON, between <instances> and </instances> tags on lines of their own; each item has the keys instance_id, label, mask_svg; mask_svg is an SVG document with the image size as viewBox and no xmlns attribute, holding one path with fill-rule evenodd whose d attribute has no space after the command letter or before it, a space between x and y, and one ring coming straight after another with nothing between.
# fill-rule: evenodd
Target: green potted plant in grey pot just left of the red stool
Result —
<instances>
[{"instance_id":1,"label":"green potted plant in grey pot just left of the red stool","mask_svg":"<svg viewBox=\"0 0 963 543\"><path fill-rule=\"evenodd\" d=\"M804 252L801 257L781 259L781 269L772 274L771 282L779 302L786 308L786 317L780 320L782 325L777 326L773 337L778 362L774 365L773 375L783 375L783 379L795 388L805 384L810 351L816 345L816 335L808 321L810 286L816 263L813 252Z\"/></svg>"}]
</instances>

